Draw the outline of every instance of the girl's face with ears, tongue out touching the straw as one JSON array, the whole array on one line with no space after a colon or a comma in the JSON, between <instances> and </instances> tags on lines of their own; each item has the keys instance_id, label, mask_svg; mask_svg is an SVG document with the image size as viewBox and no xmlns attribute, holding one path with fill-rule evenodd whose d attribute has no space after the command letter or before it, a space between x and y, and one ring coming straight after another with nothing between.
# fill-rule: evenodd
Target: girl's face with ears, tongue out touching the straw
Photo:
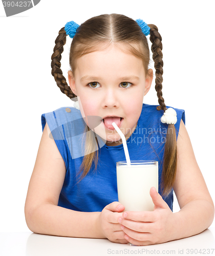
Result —
<instances>
[{"instance_id":1,"label":"girl's face with ears, tongue out touching the straw","mask_svg":"<svg viewBox=\"0 0 215 256\"><path fill-rule=\"evenodd\" d=\"M113 44L105 50L81 56L76 65L74 77L69 71L68 78L71 90L79 97L81 115L99 117L106 145L122 144L119 134L110 125L114 119L102 119L118 117L116 123L127 140L137 126L143 96L152 84L153 70L150 69L150 76L146 77L142 60Z\"/></svg>"}]
</instances>

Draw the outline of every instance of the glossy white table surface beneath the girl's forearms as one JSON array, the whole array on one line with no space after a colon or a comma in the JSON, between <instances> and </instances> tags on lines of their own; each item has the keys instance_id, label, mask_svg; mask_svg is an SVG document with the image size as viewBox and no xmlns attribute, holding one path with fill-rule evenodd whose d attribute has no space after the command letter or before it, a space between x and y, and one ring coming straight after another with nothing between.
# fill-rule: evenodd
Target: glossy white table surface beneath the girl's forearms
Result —
<instances>
[{"instance_id":1,"label":"glossy white table surface beneath the girl's forearms","mask_svg":"<svg viewBox=\"0 0 215 256\"><path fill-rule=\"evenodd\" d=\"M32 232L0 233L1 256L101 256L115 254L215 256L215 227L209 227L196 236L149 246L116 244L107 239L55 237Z\"/></svg>"}]
</instances>

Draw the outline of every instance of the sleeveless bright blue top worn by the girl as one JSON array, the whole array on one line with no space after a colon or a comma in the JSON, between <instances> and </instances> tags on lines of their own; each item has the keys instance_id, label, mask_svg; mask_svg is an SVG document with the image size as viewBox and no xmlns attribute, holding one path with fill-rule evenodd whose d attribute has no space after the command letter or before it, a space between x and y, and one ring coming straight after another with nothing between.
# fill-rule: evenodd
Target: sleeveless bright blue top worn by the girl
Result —
<instances>
[{"instance_id":1,"label":"sleeveless bright blue top worn by the girl","mask_svg":"<svg viewBox=\"0 0 215 256\"><path fill-rule=\"evenodd\" d=\"M161 194L162 160L168 125L161 122L163 111L158 111L156 108L157 105L143 104L136 129L126 142L131 160L158 161L159 193ZM181 119L185 123L185 113L184 110L175 110L177 112L175 128L178 138ZM86 125L80 111L73 107L60 108L42 114L41 122L42 131L46 122L48 123L50 137L52 136L55 140L65 161L66 176L58 206L91 212L102 211L107 204L118 201L116 162L126 160L123 145L107 146L105 143L102 144L102 140L98 140L97 169L95 170L93 163L88 175L80 180L79 167L84 156L80 141L86 134L84 133ZM173 189L164 201L173 210Z\"/></svg>"}]
</instances>

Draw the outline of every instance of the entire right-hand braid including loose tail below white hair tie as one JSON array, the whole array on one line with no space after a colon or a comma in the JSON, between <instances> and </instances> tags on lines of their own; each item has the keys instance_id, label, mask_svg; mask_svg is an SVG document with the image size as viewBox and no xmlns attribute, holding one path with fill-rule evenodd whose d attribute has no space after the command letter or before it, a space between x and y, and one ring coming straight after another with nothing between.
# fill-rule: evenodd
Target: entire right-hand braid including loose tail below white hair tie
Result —
<instances>
[{"instance_id":1,"label":"entire right-hand braid including loose tail below white hair tie","mask_svg":"<svg viewBox=\"0 0 215 256\"><path fill-rule=\"evenodd\" d=\"M155 90L158 96L157 110L167 110L163 99L162 93L162 82L163 82L163 53L162 53L162 37L158 32L158 28L150 24L150 41L152 42L153 60L155 62L156 79L155 79ZM175 182L177 169L177 140L176 130L174 124L169 124L166 135L166 143L164 148L164 159L163 159L163 171L162 171L162 196L167 196L170 193L171 188Z\"/></svg>"}]
</instances>

